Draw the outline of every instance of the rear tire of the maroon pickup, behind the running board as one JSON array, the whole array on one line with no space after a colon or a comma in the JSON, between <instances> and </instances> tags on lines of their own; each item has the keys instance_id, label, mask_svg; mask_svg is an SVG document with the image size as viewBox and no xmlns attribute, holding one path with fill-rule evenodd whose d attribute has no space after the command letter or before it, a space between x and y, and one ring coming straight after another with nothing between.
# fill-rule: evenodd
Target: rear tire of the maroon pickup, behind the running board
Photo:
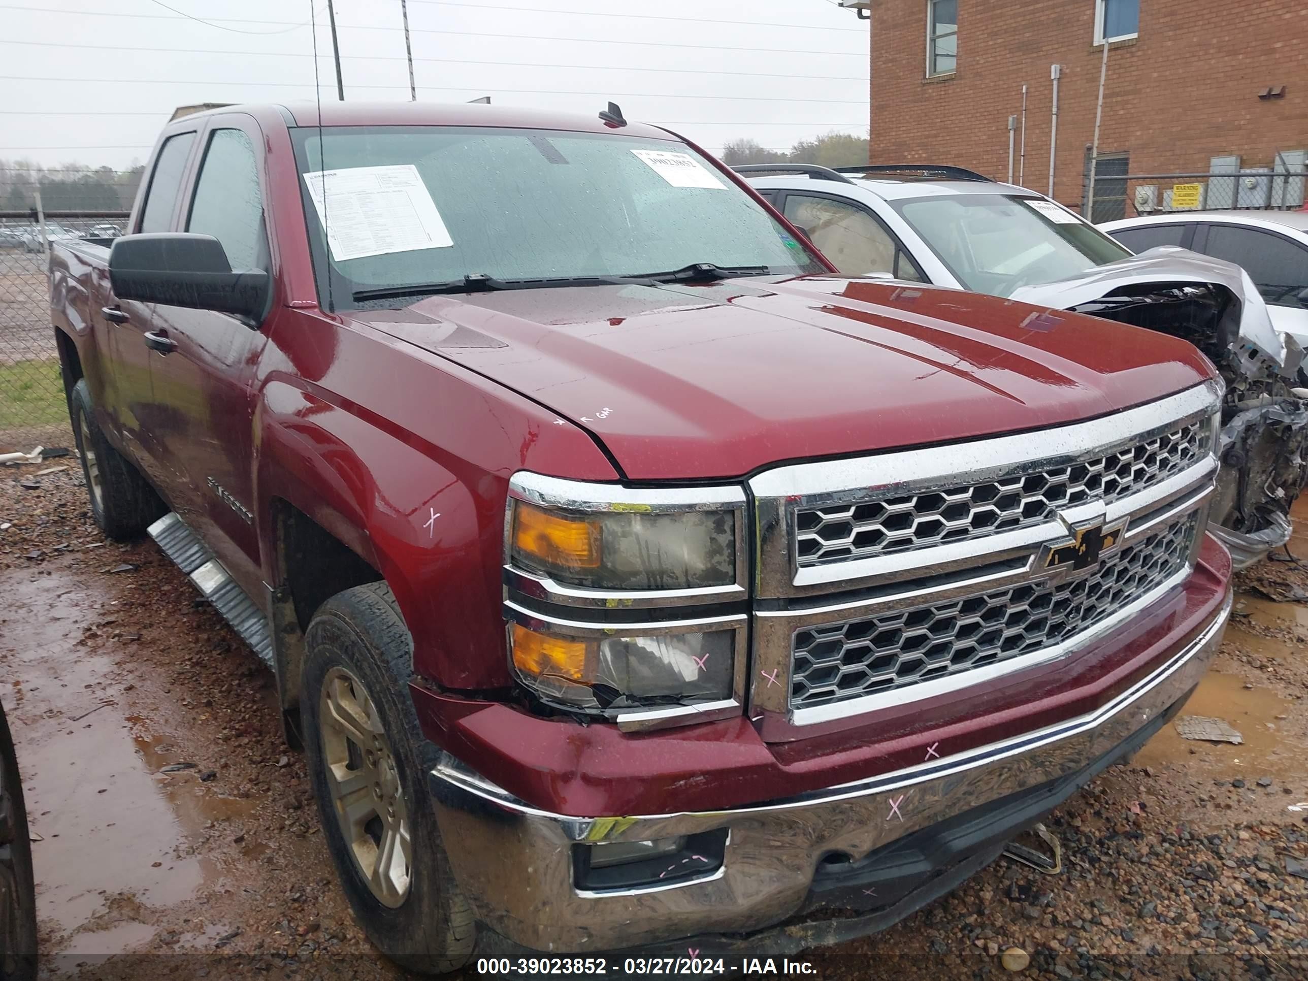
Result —
<instances>
[{"instance_id":1,"label":"rear tire of the maroon pickup, behind the running board","mask_svg":"<svg viewBox=\"0 0 1308 981\"><path fill-rule=\"evenodd\" d=\"M145 528L167 513L167 508L141 472L109 445L95 422L85 378L73 386L68 403L92 517L99 530L115 542L143 535Z\"/></svg>"}]
</instances>

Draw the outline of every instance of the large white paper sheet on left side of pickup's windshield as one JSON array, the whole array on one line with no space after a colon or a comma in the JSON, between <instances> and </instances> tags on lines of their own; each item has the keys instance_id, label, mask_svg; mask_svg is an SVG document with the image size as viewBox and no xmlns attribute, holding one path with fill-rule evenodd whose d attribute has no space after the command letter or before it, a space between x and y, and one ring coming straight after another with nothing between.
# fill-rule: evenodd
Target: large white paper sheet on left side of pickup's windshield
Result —
<instances>
[{"instance_id":1,"label":"large white paper sheet on left side of pickup's windshield","mask_svg":"<svg viewBox=\"0 0 1308 981\"><path fill-rule=\"evenodd\" d=\"M345 167L305 174L337 262L454 245L417 167Z\"/></svg>"}]
</instances>

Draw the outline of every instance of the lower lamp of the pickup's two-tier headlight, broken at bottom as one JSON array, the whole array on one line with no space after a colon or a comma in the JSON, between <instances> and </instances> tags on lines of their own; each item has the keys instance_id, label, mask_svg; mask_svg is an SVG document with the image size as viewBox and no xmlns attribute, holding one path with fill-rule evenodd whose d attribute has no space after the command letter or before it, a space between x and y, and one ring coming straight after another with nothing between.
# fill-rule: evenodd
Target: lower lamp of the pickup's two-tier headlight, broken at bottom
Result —
<instances>
[{"instance_id":1,"label":"lower lamp of the pickup's two-tier headlight, broken at bottom","mask_svg":"<svg viewBox=\"0 0 1308 981\"><path fill-rule=\"evenodd\" d=\"M547 701L608 709L730 698L735 630L568 637L514 623L518 676Z\"/></svg>"}]
</instances>

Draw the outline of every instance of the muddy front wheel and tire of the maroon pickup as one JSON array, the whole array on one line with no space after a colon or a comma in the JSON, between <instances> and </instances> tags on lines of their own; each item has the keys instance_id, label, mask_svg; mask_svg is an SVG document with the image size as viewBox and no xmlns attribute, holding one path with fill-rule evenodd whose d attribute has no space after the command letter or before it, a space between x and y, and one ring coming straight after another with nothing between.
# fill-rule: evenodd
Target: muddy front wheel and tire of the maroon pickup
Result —
<instances>
[{"instance_id":1,"label":"muddy front wheel and tire of the maroon pickup","mask_svg":"<svg viewBox=\"0 0 1308 981\"><path fill-rule=\"evenodd\" d=\"M323 835L368 938L409 971L467 963L472 909L450 871L413 712L413 640L386 583L339 593L305 634L300 718Z\"/></svg>"}]
</instances>

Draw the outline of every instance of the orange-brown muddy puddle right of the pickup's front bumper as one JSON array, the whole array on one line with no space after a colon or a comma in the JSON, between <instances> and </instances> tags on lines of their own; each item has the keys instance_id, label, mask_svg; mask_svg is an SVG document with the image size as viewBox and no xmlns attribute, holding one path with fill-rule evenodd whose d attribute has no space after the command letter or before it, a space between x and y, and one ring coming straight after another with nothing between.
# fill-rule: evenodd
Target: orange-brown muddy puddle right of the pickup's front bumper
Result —
<instances>
[{"instance_id":1,"label":"orange-brown muddy puddle right of the pickup's front bumper","mask_svg":"<svg viewBox=\"0 0 1308 981\"><path fill-rule=\"evenodd\" d=\"M1244 640L1241 636L1241 644ZM1196 755L1190 749L1194 749L1205 761L1205 770L1220 777L1244 777L1250 783L1264 776L1274 777L1281 783L1308 773L1308 746L1294 734L1298 710L1295 702L1267 688L1244 685L1244 679L1236 675L1210 671L1181 710L1182 715L1209 715L1230 722L1244 736L1243 744L1181 739L1176 727L1169 723L1144 744L1133 764L1192 765ZM1278 715L1284 718L1277 718Z\"/></svg>"}]
</instances>

